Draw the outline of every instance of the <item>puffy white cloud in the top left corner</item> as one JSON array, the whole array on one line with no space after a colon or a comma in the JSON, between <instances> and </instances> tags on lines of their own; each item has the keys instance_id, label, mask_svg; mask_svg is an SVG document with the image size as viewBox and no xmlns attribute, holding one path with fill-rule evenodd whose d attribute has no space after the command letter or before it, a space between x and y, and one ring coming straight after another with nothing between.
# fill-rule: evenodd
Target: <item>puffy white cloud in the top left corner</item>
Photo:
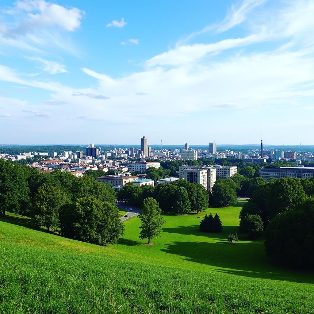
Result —
<instances>
[{"instance_id":1,"label":"puffy white cloud in the top left corner","mask_svg":"<svg viewBox=\"0 0 314 314\"><path fill-rule=\"evenodd\" d=\"M0 32L4 37L19 37L37 29L58 26L67 31L74 31L81 24L84 11L78 8L67 9L61 5L44 0L25 0L14 3L15 7L4 11L6 14L20 15L21 22L15 27L2 24Z\"/></svg>"}]
</instances>

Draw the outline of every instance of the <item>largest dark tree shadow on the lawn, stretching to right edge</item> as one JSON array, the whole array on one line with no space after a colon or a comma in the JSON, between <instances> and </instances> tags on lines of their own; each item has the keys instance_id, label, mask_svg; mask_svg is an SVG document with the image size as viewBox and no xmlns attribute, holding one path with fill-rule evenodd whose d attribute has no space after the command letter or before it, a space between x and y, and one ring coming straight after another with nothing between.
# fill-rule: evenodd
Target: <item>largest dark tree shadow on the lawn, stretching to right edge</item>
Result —
<instances>
[{"instance_id":1,"label":"largest dark tree shadow on the lawn, stretching to right edge","mask_svg":"<svg viewBox=\"0 0 314 314\"><path fill-rule=\"evenodd\" d=\"M265 255L262 242L181 242L165 244L163 252L184 257L184 260L230 269L215 271L245 277L314 283L313 273L301 273L275 267Z\"/></svg>"}]
</instances>

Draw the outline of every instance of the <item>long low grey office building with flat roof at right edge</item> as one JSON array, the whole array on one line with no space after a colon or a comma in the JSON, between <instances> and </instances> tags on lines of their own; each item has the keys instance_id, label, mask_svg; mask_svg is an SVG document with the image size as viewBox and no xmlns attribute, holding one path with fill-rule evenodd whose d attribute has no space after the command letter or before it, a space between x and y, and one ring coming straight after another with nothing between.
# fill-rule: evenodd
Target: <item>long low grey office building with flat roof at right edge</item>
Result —
<instances>
[{"instance_id":1,"label":"long low grey office building with flat roof at right edge","mask_svg":"<svg viewBox=\"0 0 314 314\"><path fill-rule=\"evenodd\" d=\"M310 167L280 167L280 168L261 168L259 176L266 181L269 178L280 179L287 178L300 178L306 179L314 177L314 168Z\"/></svg>"}]
</instances>

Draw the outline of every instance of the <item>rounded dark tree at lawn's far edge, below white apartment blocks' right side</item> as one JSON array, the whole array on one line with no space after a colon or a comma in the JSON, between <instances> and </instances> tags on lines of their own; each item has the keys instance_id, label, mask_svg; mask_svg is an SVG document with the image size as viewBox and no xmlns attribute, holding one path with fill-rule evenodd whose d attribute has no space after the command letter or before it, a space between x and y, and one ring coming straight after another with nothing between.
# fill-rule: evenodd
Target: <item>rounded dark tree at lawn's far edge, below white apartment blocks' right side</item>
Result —
<instances>
[{"instance_id":1,"label":"rounded dark tree at lawn's far edge, below white apartment blocks' right side","mask_svg":"<svg viewBox=\"0 0 314 314\"><path fill-rule=\"evenodd\" d=\"M211 202L216 206L229 206L238 203L236 191L228 184L218 182L212 188Z\"/></svg>"}]
</instances>

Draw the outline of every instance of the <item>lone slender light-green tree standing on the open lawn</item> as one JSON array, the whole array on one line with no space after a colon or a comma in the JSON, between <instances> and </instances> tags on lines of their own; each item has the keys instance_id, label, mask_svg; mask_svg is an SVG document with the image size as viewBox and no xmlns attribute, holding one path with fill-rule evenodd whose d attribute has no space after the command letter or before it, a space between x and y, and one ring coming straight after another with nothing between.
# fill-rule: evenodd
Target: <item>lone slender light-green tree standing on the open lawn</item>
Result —
<instances>
[{"instance_id":1,"label":"lone slender light-green tree standing on the open lawn","mask_svg":"<svg viewBox=\"0 0 314 314\"><path fill-rule=\"evenodd\" d=\"M154 198L145 198L143 201L142 211L138 213L143 225L139 228L141 240L148 239L148 244L152 238L160 236L161 228L165 224L165 219L160 216L161 208Z\"/></svg>"}]
</instances>

